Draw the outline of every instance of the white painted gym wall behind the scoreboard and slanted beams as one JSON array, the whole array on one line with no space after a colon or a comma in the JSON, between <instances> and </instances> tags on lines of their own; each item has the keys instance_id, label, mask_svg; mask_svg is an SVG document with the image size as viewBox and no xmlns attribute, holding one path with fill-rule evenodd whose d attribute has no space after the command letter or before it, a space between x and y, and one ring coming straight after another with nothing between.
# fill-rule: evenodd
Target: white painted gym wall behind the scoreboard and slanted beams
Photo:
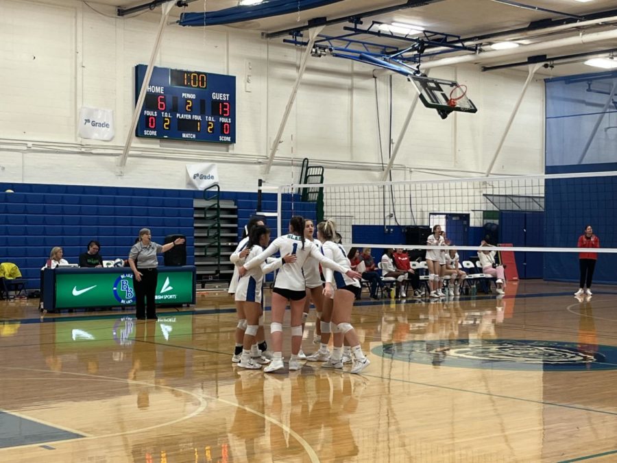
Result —
<instances>
[{"instance_id":1,"label":"white painted gym wall behind the scoreboard and slanted beams","mask_svg":"<svg viewBox=\"0 0 617 463\"><path fill-rule=\"evenodd\" d=\"M134 65L149 58L160 9L123 19L114 17L113 8L91 4L110 17L73 0L0 3L0 181L182 189L186 163L214 162L223 190L255 191L260 176L256 167L269 154L302 49L282 39L268 42L241 28L167 26L156 65L236 75L237 143L135 139L125 174L118 176L115 163L134 107ZM269 176L271 185L291 182L304 157L326 166L328 182L379 179L372 71L339 58L309 59ZM245 82L247 73L250 83ZM526 75L524 70L481 73L472 66L433 69L431 76L467 84L479 111L450 115L444 121L419 104L393 179L435 178L426 173L433 169L448 176L485 171ZM388 80L387 74L378 73L384 163ZM395 142L413 95L411 84L394 75ZM77 137L82 106L114 110L112 141ZM494 174L542 172L543 133L544 84L537 78L524 97Z\"/></svg>"}]
</instances>

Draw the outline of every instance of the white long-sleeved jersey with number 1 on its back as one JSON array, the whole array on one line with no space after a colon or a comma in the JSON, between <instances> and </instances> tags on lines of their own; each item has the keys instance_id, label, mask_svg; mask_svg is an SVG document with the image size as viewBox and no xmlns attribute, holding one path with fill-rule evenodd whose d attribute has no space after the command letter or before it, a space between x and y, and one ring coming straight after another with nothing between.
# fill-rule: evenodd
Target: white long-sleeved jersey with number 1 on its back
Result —
<instances>
[{"instance_id":1,"label":"white long-sleeved jersey with number 1 on its back","mask_svg":"<svg viewBox=\"0 0 617 463\"><path fill-rule=\"evenodd\" d=\"M330 267L338 272L345 273L349 270L349 267L343 268L336 262L327 259L319 252L317 245L306 239L304 241L304 248L302 248L302 238L296 235L283 235L278 237L267 249L258 254L250 261L244 264L247 270L250 270L275 252L279 252L281 257L285 257L287 254L295 254L296 260L294 263L286 263L282 265L280 271L276 275L274 281L274 287L280 289L291 289L291 291L304 291L306 289L306 283L304 281L304 274L302 273L302 266L306 259L313 257L317 259L323 267Z\"/></svg>"}]
</instances>

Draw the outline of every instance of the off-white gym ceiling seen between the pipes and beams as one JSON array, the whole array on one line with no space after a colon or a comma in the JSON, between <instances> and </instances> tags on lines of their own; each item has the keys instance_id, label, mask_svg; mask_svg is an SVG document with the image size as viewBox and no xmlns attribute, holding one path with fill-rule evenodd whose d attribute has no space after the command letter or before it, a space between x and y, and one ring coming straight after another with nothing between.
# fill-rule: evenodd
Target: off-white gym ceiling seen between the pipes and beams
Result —
<instances>
[{"instance_id":1,"label":"off-white gym ceiling seen between the pipes and beams","mask_svg":"<svg viewBox=\"0 0 617 463\"><path fill-rule=\"evenodd\" d=\"M519 3L525 3L537 8L543 8L548 10L555 10L563 12L565 14L577 14L580 16L586 16L596 12L604 12L617 8L616 0L592 0L585 3L581 3L576 0L518 0ZM97 5L108 5L123 8L130 8L135 5L141 5L147 3L146 0L88 0L87 3L93 7ZM336 19L346 17L352 14L359 14L369 10L376 10L392 5L400 5L405 3L404 0L343 0L338 3L334 3L322 8L314 8L313 10L306 10L294 14L286 14L281 16L274 16L265 19L258 19L256 21L248 21L246 23L236 23L230 25L231 27L241 27L243 29L254 29L260 32L276 32L293 27L306 25L309 19L315 17L326 16L328 19ZM203 12L222 10L223 8L232 8L238 5L238 0L197 0L192 1L187 8L174 8L173 13L175 16L179 16L180 12ZM247 7L244 7L247 8ZM498 3L494 0L441 0L423 5L417 8L403 8L388 14L380 16L374 16L363 19L363 27L370 25L371 21L381 21L385 23L391 23L398 21L402 23L409 23L419 25L425 29L459 35L462 38L472 38L474 36L482 36L484 34L492 34L496 32L509 31L511 29L524 28L533 21L540 20L559 20L564 19L566 16L558 13L541 12L529 9L520 8L513 5L507 5L504 3ZM349 26L350 23L340 23L337 25L330 25L324 29L324 34L330 36L343 33L343 26ZM577 36L579 34L592 34L595 32L609 31L617 28L617 17L612 20L612 23L605 23L601 25L590 25L586 27L576 27L571 25L566 29L557 32L546 31L545 33L534 33L531 36L523 36L522 34L514 34L510 38L516 40L523 45L520 47L520 53L516 56L497 57L491 60L485 60L479 58L474 60L476 64L485 66L494 66L496 64L509 64L513 62L524 62L527 60L527 56L535 56L545 54L548 58L555 56L564 56L570 54L580 54L583 52L601 51L605 49L617 49L617 38L611 40L602 40L593 44L579 44L570 45L568 47L549 47L546 48L540 46L540 49L536 49L533 52L527 52L524 50L524 45L537 44L537 43L553 43L558 38L568 38ZM289 38L289 36L287 37ZM384 43L382 38L376 38L374 36L360 36L361 40L369 40L371 42ZM280 38L272 38L271 40L281 40ZM481 48L483 50L489 50L489 43L497 41L498 39L483 40ZM398 40L390 40L389 43L394 43L399 47L408 47L409 43L401 42ZM469 54L469 52L462 52L461 54ZM442 57L457 56L456 54L441 55ZM605 55L606 56L606 55ZM586 59L586 58L585 58ZM573 73L585 73L601 71L601 69L588 67L582 64L583 58L572 59L568 64L559 64L555 62L554 69L547 69L544 73L551 73L552 75L568 75ZM524 68L522 68L524 69Z\"/></svg>"}]
</instances>

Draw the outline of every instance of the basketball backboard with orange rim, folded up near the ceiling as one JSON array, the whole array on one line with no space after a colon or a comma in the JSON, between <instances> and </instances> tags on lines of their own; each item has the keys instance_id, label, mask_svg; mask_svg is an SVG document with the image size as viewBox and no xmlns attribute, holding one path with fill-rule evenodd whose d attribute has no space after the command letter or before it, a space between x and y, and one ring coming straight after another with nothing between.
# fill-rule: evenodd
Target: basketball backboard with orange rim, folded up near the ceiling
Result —
<instances>
[{"instance_id":1,"label":"basketball backboard with orange rim, folded up near the ceiling","mask_svg":"<svg viewBox=\"0 0 617 463\"><path fill-rule=\"evenodd\" d=\"M420 100L426 108L439 112L446 119L452 111L477 112L478 108L467 97L467 87L453 80L434 79L420 75L410 75Z\"/></svg>"}]
</instances>

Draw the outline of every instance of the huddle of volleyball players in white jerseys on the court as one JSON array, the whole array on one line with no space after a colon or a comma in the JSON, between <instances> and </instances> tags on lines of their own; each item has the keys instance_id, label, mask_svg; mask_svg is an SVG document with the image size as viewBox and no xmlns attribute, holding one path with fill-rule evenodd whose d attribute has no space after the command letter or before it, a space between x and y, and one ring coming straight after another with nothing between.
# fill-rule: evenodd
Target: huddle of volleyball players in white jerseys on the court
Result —
<instances>
[{"instance_id":1,"label":"huddle of volleyball players in white jerseys on the court","mask_svg":"<svg viewBox=\"0 0 617 463\"><path fill-rule=\"evenodd\" d=\"M303 217L291 217L289 233L269 243L270 232L259 219L247 226L247 237L230 257L234 276L229 292L234 294L238 311L236 348L232 361L241 368L265 372L284 368L282 357L282 321L287 305L291 307L291 358L289 370L301 368L299 360L325 361L323 368L342 369L352 361L350 372L359 373L370 361L365 357L354 327L350 324L354 300L359 294L361 275L350 270L345 250L337 244L335 223L326 220L317 225L313 239L313 222ZM278 253L280 257L271 258ZM319 274L324 271L324 280ZM278 270L271 301L271 359L263 333L263 279L268 272ZM302 331L309 307L309 295L317 309L320 347L317 353L305 357L301 353ZM334 348L328 351L330 335ZM343 342L346 357L343 357Z\"/></svg>"}]
</instances>

